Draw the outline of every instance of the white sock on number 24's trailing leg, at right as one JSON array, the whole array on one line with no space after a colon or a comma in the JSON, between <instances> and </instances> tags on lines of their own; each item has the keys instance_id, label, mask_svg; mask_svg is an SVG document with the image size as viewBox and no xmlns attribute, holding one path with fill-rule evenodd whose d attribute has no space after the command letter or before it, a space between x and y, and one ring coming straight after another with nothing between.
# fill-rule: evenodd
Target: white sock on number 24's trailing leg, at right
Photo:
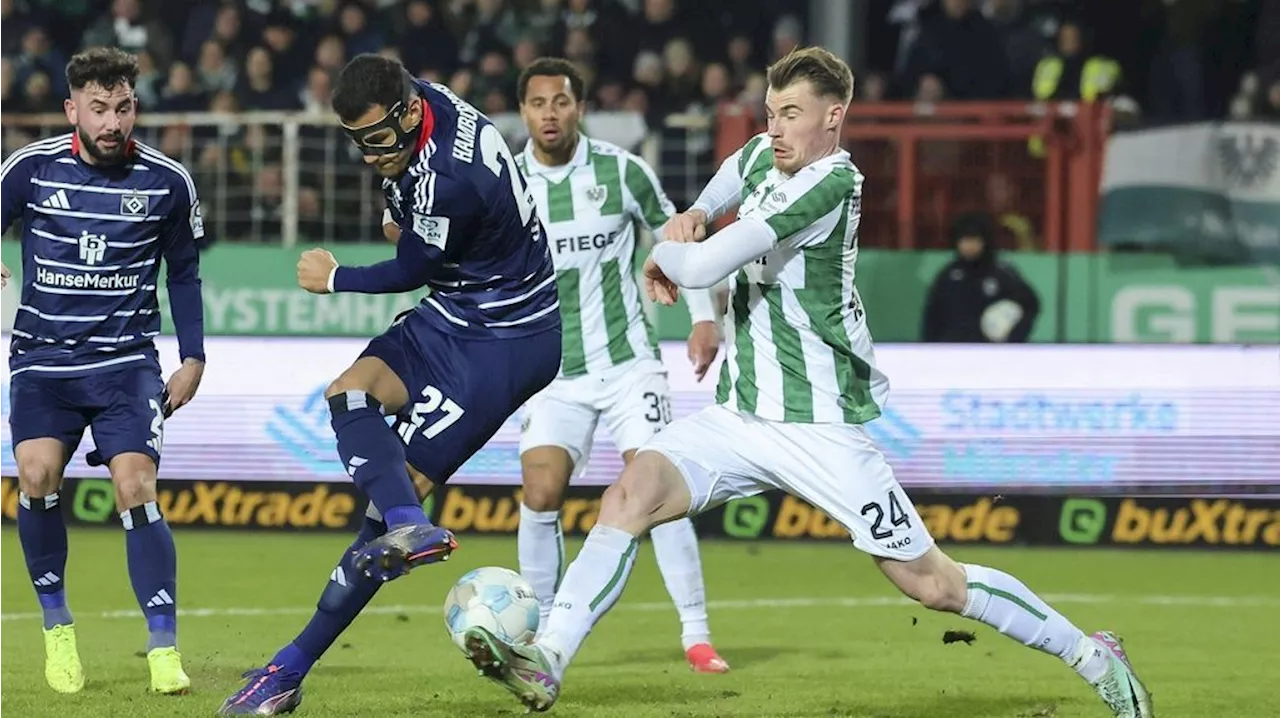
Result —
<instances>
[{"instance_id":1,"label":"white sock on number 24's trailing leg, at right","mask_svg":"<svg viewBox=\"0 0 1280 718\"><path fill-rule=\"evenodd\" d=\"M969 599L961 616L982 621L1024 645L1051 653L1069 666L1078 660L1084 631L1009 573L973 563L963 567Z\"/></svg>"}]
</instances>

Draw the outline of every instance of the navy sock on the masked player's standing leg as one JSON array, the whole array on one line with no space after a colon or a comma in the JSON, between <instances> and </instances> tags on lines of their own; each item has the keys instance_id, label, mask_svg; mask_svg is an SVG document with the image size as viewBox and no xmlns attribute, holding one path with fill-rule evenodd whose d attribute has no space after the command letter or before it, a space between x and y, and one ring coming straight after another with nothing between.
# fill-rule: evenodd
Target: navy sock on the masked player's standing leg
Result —
<instances>
[{"instance_id":1,"label":"navy sock on the masked player's standing leg","mask_svg":"<svg viewBox=\"0 0 1280 718\"><path fill-rule=\"evenodd\" d=\"M320 594L320 603L311 621L302 628L293 642L280 649L271 659L273 666L287 667L306 674L311 666L329 650L333 641L347 630L347 626L360 616L374 594L383 585L381 581L371 581L364 572L357 571L356 552L369 541L387 532L387 525L365 517L365 523L360 527L360 534L351 546L342 554L338 566L329 575L329 584Z\"/></svg>"}]
</instances>

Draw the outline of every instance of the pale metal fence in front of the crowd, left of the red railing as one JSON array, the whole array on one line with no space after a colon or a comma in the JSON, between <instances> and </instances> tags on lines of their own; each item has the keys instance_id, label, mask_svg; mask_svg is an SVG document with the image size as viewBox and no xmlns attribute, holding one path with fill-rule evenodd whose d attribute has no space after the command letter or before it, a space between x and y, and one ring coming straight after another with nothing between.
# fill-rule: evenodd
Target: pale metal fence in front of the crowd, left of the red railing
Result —
<instances>
[{"instance_id":1,"label":"pale metal fence in front of the crowd, left of the red railing","mask_svg":"<svg viewBox=\"0 0 1280 718\"><path fill-rule=\"evenodd\" d=\"M518 115L492 118L524 146ZM652 131L634 113L598 113L585 129L640 154L678 207L696 198L714 172L713 118L680 115ZM4 155L68 131L61 115L5 115ZM196 113L140 115L134 136L182 161L196 180L210 237L283 243L380 242L380 179L324 114Z\"/></svg>"}]
</instances>

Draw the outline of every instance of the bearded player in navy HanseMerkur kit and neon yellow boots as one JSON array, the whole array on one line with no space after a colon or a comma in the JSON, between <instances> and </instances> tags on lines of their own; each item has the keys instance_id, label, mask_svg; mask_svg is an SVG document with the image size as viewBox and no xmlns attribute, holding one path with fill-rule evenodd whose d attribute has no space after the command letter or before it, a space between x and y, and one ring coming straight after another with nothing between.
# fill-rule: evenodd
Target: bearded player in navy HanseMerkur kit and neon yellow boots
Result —
<instances>
[{"instance_id":1,"label":"bearded player in navy HanseMerkur kit and neon yellow boots","mask_svg":"<svg viewBox=\"0 0 1280 718\"><path fill-rule=\"evenodd\" d=\"M146 616L151 690L184 692L177 649L177 558L156 504L168 413L205 371L196 186L182 164L132 140L137 60L92 49L67 65L68 134L33 142L0 166L0 232L22 223L22 299L9 369L18 462L18 534L45 616L45 680L77 692L84 672L67 607L67 526L58 490L92 427L124 523L129 580ZM182 367L168 385L156 280L168 273Z\"/></svg>"}]
</instances>

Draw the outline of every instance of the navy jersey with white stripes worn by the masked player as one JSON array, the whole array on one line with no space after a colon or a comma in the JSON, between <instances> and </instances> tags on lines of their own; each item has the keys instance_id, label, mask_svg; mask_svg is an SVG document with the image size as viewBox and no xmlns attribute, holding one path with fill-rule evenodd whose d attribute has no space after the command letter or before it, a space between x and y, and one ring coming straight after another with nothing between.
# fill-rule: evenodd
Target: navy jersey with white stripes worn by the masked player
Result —
<instances>
[{"instance_id":1,"label":"navy jersey with white stripes worn by the masked player","mask_svg":"<svg viewBox=\"0 0 1280 718\"><path fill-rule=\"evenodd\" d=\"M532 195L498 128L443 84L425 99L417 155L384 179L401 228L396 259L339 267L338 292L430 293L413 311L468 338L527 337L559 328L556 270Z\"/></svg>"}]
</instances>

